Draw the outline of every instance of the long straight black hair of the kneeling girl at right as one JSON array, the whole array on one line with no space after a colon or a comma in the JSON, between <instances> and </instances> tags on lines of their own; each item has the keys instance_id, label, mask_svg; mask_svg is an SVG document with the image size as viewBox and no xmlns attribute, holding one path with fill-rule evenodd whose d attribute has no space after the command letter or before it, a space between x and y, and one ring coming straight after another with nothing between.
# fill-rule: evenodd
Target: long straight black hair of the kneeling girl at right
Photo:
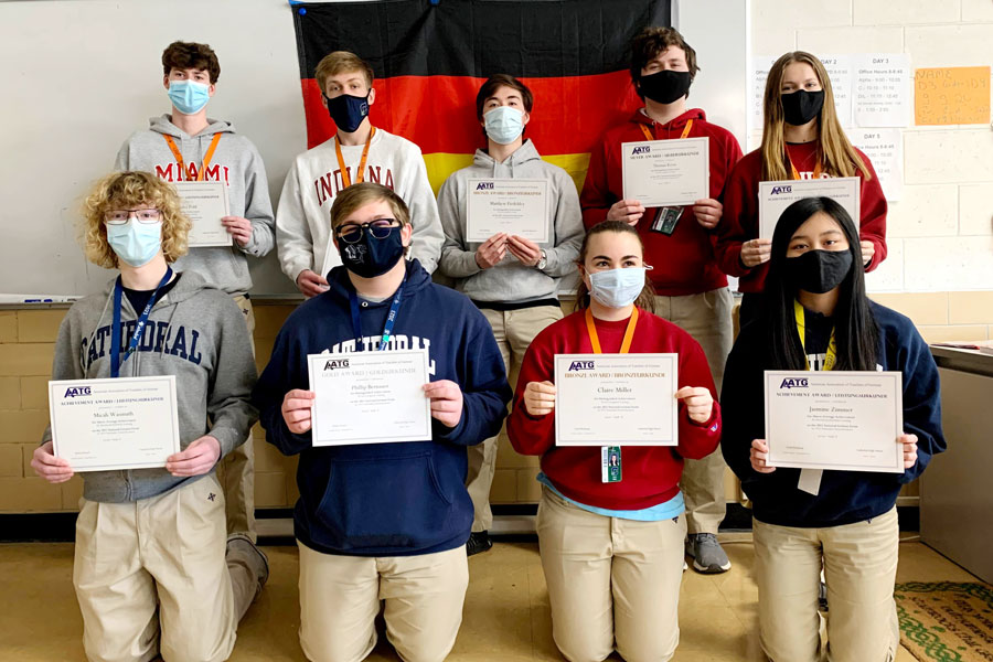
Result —
<instances>
[{"instance_id":1,"label":"long straight black hair of the kneeling girl at right","mask_svg":"<svg viewBox=\"0 0 993 662\"><path fill-rule=\"evenodd\" d=\"M793 311L798 288L787 273L787 249L797 229L818 212L828 214L837 223L852 253L852 270L839 286L837 307L834 309L835 370L876 370L879 329L865 295L858 231L844 207L830 197L798 200L779 217L772 234L772 257L766 277L766 305L762 310L769 339L768 364L777 370L805 367Z\"/></svg>"}]
</instances>

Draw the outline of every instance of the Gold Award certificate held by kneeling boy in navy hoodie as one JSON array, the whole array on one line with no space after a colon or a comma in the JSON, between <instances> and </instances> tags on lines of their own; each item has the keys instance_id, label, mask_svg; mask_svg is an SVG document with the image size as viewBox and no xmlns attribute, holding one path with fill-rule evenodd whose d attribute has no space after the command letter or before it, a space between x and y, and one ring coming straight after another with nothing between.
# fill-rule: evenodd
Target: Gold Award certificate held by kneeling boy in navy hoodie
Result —
<instances>
[{"instance_id":1,"label":"Gold Award certificate held by kneeling boy in navy hoodie","mask_svg":"<svg viewBox=\"0 0 993 662\"><path fill-rule=\"evenodd\" d=\"M428 351L309 354L314 446L431 438Z\"/></svg>"}]
</instances>

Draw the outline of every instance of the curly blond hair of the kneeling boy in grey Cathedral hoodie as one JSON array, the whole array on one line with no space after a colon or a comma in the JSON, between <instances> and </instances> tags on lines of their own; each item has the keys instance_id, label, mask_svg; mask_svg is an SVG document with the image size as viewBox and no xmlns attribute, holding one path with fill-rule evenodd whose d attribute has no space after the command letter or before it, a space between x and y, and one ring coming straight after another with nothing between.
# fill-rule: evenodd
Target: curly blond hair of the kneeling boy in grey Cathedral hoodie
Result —
<instances>
[{"instance_id":1,"label":"curly blond hair of the kneeling boy in grey Cathedral hoodie","mask_svg":"<svg viewBox=\"0 0 993 662\"><path fill-rule=\"evenodd\" d=\"M180 211L170 184L148 172L114 172L100 179L83 201L82 243L86 258L98 267L118 268L117 254L107 242L104 215L110 210L154 207L162 214L162 254L174 263L186 254L192 223Z\"/></svg>"}]
</instances>

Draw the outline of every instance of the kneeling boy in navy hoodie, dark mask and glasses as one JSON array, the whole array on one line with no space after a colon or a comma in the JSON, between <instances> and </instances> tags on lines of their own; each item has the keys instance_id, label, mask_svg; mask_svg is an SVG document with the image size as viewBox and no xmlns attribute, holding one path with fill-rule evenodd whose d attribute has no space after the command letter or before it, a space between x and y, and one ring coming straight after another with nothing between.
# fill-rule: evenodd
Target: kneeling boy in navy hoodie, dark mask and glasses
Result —
<instances>
[{"instance_id":1,"label":"kneeling boy in navy hoodie, dark mask and glasses","mask_svg":"<svg viewBox=\"0 0 993 662\"><path fill-rule=\"evenodd\" d=\"M401 658L442 660L469 580L466 447L500 429L510 387L483 316L404 259L413 227L399 195L353 184L331 205L330 225L344 265L287 319L254 396L268 441L300 453L300 643L309 660L362 660L385 599ZM406 348L430 351L431 438L312 448L307 354Z\"/></svg>"}]
</instances>

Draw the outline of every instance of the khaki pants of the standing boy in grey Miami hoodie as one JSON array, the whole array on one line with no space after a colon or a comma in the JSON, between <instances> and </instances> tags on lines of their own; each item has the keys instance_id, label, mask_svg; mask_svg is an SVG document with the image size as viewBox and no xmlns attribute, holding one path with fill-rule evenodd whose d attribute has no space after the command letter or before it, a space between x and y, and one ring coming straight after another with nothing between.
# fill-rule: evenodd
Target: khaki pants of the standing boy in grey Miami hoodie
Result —
<instances>
[{"instance_id":1,"label":"khaki pants of the standing boy in grey Miami hoodie","mask_svg":"<svg viewBox=\"0 0 993 662\"><path fill-rule=\"evenodd\" d=\"M248 325L248 339L252 341L252 354L255 355L255 312L247 297L233 297L245 316ZM224 501L227 504L227 533L245 533L256 542L255 531L255 446L252 433L244 444L224 456L215 471Z\"/></svg>"}]
</instances>

